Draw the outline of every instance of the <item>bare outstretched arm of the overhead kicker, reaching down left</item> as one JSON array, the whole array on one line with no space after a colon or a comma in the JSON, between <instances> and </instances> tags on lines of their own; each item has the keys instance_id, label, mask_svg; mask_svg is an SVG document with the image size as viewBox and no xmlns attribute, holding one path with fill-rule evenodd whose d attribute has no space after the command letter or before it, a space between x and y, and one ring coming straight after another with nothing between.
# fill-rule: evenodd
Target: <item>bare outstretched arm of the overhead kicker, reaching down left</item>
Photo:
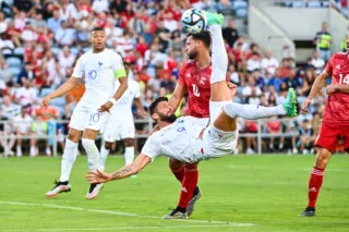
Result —
<instances>
[{"instance_id":1,"label":"bare outstretched arm of the overhead kicker, reaching down left","mask_svg":"<svg viewBox=\"0 0 349 232\"><path fill-rule=\"evenodd\" d=\"M151 161L152 159L149 157L145 156L144 154L141 154L131 164L124 166L113 173L108 174L99 170L97 172L88 171L86 180L89 183L106 183L109 181L129 178L133 174L139 173Z\"/></svg>"}]
</instances>

